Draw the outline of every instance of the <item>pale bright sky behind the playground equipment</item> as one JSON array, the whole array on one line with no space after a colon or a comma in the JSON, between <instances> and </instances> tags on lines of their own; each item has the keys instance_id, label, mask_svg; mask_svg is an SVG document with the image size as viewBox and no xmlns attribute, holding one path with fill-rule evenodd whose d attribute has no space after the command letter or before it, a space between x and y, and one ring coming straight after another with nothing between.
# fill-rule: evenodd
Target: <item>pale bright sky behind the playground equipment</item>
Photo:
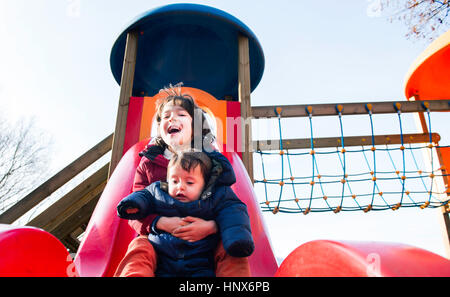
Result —
<instances>
[{"instance_id":1,"label":"pale bright sky behind the playground equipment","mask_svg":"<svg viewBox=\"0 0 450 297\"><path fill-rule=\"evenodd\" d=\"M52 172L114 130L119 86L109 56L118 35L135 16L178 2L0 0L0 109L11 121L33 117L51 135ZM251 95L255 106L406 100L405 75L429 43L407 40L403 24L374 14L375 0L190 2L234 15L259 39L265 71ZM348 126L356 129L363 121L367 125L361 120ZM380 125L393 127L389 121L395 118L383 118ZM448 124L442 115L437 121L435 127ZM255 134L272 138L268 126L257 125ZM400 242L444 255L438 213L401 209L264 218L280 259L315 239Z\"/></svg>"}]
</instances>

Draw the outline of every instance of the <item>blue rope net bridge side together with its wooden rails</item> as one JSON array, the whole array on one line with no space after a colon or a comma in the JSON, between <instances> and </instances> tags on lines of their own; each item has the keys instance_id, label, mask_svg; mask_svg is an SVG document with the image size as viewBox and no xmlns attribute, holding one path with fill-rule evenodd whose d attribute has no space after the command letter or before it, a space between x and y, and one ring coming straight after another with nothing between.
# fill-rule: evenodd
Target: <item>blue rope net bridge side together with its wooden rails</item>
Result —
<instances>
[{"instance_id":1,"label":"blue rope net bridge side together with its wooden rails","mask_svg":"<svg viewBox=\"0 0 450 297\"><path fill-rule=\"evenodd\" d=\"M442 104L445 103L445 104ZM426 105L426 106L425 106ZM446 207L448 198L443 185L437 186L438 178L447 178L444 163L440 160L441 150L446 150L447 146L440 146L440 135L431 130L425 133L404 133L405 121L403 113L426 112L427 121L431 121L430 106L434 111L447 110L446 102L438 101L436 104L426 102L378 102L373 104L339 104L339 105L307 105L304 106L306 116L309 118L310 138L305 139L284 139L282 136L281 117L276 110L283 112L286 107L275 107L274 113L278 118L278 128L280 139L270 141L256 141L255 146L260 154L262 170L262 179L255 180L255 183L264 184L265 201L262 207L266 211L273 213L281 212L324 212L333 211L364 211L371 210L397 210L400 207L420 207L422 209L430 207ZM297 106L298 108L299 106ZM367 114L367 125L370 135L345 137L345 127L343 125L343 111L348 107L351 114ZM264 107L266 108L266 107ZM336 126L341 132L340 137L320 138L315 137L313 132L313 111L318 110L318 116L333 115L338 113ZM325 110L325 109L328 109ZM398 117L398 130L400 134L375 135L374 134L374 111L384 114L395 113ZM331 112L331 113L330 113ZM294 116L291 112L288 116ZM298 114L297 114L298 116ZM337 118L337 117L336 117ZM358 122L364 119L358 119ZM431 124L428 125L431 127ZM270 143L270 144L269 144ZM355 148L356 147L356 148ZM269 152L267 152L269 150ZM270 150L275 150L272 152ZM295 152L292 152L295 150ZM424 151L426 164L418 163L420 154ZM437 152L437 154L436 154ZM361 155L355 159L351 155ZM436 156L435 156L436 154ZM281 177L267 178L264 167L264 159L267 156L279 155ZM333 158L336 162L333 162ZM358 160L358 161L355 161ZM394 160L398 160L397 164ZM436 162L437 161L437 162ZM355 162L363 163L354 164ZM388 163L386 166L383 163ZM303 164L302 169L297 173L303 173L303 176L294 174L292 164ZM321 164L326 173L319 170ZM428 166L424 166L428 165ZM283 168L284 167L284 168ZM288 167L288 170L287 170ZM330 168L335 167L334 174ZM359 171L355 172L353 168ZM364 168L366 167L366 168ZM391 169L389 170L389 167ZM429 168L426 168L429 167ZM305 175L312 172L311 175ZM415 185L415 181L420 183L420 187ZM442 181L442 180L441 180ZM330 185L335 185L330 191ZM395 185L400 185L400 190L393 191ZM279 198L271 199L268 197L267 188L271 186L271 193L279 192ZM320 189L316 189L316 186ZM282 199L284 189L291 190L291 199ZM356 194L354 188L365 189L362 194ZM384 190L383 190L384 189ZM328 191L327 191L328 190ZM389 191L387 191L389 190ZM296 192L307 193L308 195L296 195ZM334 192L333 194L328 194ZM392 196L398 198L395 203L390 203ZM420 200L415 200L416 196ZM441 197L439 197L441 196ZM292 197L295 197L292 199ZM322 200L321 207L315 205L317 200ZM333 206L330 200L338 200ZM351 200L351 203L344 203ZM283 205L291 203L290 207Z\"/></svg>"}]
</instances>

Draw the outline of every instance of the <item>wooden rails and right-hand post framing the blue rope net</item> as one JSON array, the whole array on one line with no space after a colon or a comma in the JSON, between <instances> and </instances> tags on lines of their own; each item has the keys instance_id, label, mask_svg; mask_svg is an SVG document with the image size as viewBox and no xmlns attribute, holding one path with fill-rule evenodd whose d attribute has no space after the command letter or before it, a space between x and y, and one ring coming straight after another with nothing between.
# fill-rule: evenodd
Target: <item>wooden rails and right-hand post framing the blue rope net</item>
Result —
<instances>
[{"instance_id":1,"label":"wooden rails and right-hand post framing the blue rope net","mask_svg":"<svg viewBox=\"0 0 450 297\"><path fill-rule=\"evenodd\" d=\"M418 116L418 123L420 132L418 134L404 134L404 143L428 143L430 134L427 121L425 119L425 112L445 112L450 111L450 100L419 100L418 97L411 98L410 101L385 101L374 103L342 103L342 104L305 104L305 105L274 105L274 106L254 106L251 108L251 114L255 119L260 118L274 118L274 117L308 117L308 116L336 116L341 111L341 115L367 115L369 110L372 114L387 114L387 113L416 113ZM377 135L374 137L375 145L379 144L401 144L401 135ZM439 134L432 134L433 143L439 145ZM314 147L339 147L341 142L340 137L330 138L315 138ZM372 145L372 136L353 136L344 137L345 146L357 145ZM280 140L259 140L252 141L253 148L256 150L279 150ZM282 140L284 149L308 149L311 147L311 139L284 139ZM447 169L445 168L442 154L439 147L436 149L440 168L443 175L443 181L447 188L447 195L449 195L448 185L449 178L446 176ZM448 204L441 207L440 221L443 226L443 239L447 258L450 259L450 206Z\"/></svg>"}]
</instances>

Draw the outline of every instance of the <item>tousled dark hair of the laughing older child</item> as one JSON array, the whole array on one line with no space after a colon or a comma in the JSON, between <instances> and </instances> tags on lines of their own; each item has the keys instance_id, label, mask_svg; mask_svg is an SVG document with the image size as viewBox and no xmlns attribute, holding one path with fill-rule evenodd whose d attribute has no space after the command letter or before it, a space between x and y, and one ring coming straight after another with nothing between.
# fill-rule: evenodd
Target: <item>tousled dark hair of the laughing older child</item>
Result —
<instances>
[{"instance_id":1,"label":"tousled dark hair of the laughing older child","mask_svg":"<svg viewBox=\"0 0 450 297\"><path fill-rule=\"evenodd\" d=\"M164 109L164 106L166 104L172 102L173 105L182 107L191 116L192 131L193 131L192 133L194 133L194 131L195 131L194 130L194 121L196 119L195 113L196 113L196 111L200 111L201 116L202 116L201 117L201 121L202 121L201 144L202 144L202 146L205 146L206 150L212 150L212 143L215 138L214 138L214 135L212 134L211 128L206 119L205 112L200 107L198 107L198 105L195 103L194 99L190 95L181 93L182 85L183 85L183 83L178 83L175 86L172 86L171 84L169 84L168 87L165 87L164 89L159 91L160 93L162 93L162 92L166 93L167 96L159 99L156 102L156 122L159 126L161 123L161 116L162 116L162 111ZM195 135L192 135L192 143L191 143L192 148L194 147L194 137L195 137ZM157 145L160 145L164 148L167 147L167 144L164 142L164 140L162 140L161 137L156 137L155 142Z\"/></svg>"}]
</instances>

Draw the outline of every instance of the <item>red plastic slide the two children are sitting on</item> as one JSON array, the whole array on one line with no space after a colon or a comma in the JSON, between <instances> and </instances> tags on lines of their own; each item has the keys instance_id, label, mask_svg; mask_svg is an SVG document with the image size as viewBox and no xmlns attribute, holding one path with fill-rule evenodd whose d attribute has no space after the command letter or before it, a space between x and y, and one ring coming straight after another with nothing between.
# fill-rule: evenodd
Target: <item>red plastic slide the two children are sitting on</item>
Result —
<instances>
[{"instance_id":1,"label":"red plastic slide the two children are sitting on","mask_svg":"<svg viewBox=\"0 0 450 297\"><path fill-rule=\"evenodd\" d=\"M139 164L138 153L148 139L132 146L122 157L94 210L83 242L75 257L80 276L112 276L124 256L128 244L136 236L128 221L119 219L116 206L131 193L134 174ZM246 203L250 215L255 251L249 259L253 276L273 276L277 264L270 247L253 185L237 153L225 153L236 173L233 190Z\"/></svg>"}]
</instances>

